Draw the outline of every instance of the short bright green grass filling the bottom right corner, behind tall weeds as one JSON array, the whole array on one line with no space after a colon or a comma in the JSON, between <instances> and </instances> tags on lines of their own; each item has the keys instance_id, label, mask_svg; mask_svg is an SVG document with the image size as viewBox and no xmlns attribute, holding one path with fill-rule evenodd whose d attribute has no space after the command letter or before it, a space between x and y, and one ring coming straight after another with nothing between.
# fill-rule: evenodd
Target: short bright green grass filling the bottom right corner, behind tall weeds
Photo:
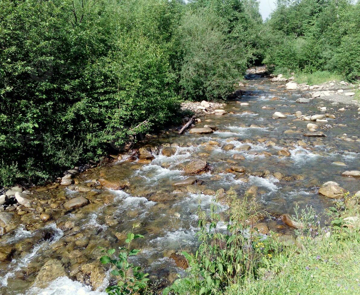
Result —
<instances>
[{"instance_id":1,"label":"short bright green grass filling the bottom right corner, behind tall weeds","mask_svg":"<svg viewBox=\"0 0 360 295\"><path fill-rule=\"evenodd\" d=\"M288 260L273 278L233 285L226 294L360 294L359 237L311 241L306 252L291 247L282 257ZM274 265L280 266L282 257L274 256Z\"/></svg>"}]
</instances>

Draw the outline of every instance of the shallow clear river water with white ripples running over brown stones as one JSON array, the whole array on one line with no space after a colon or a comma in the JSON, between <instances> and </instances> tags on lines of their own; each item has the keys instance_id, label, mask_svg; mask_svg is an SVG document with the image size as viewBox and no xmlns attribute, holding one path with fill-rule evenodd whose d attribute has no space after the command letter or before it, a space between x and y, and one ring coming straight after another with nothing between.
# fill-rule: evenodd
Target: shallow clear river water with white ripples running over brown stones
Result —
<instances>
[{"instance_id":1,"label":"shallow clear river water with white ripples running over brown stones","mask_svg":"<svg viewBox=\"0 0 360 295\"><path fill-rule=\"evenodd\" d=\"M340 139L344 133L347 137L360 136L360 121L354 106L338 112L345 105L333 106L321 99L299 104L295 100L305 96L305 92L278 88L279 84L261 75L249 74L247 79L242 94L226 102L227 114L205 115L201 117L202 123L197 123L197 127L216 125L218 131L205 135L164 132L144 142L159 151L154 153L151 163L117 161L83 172L77 178L83 185L99 178L127 180L130 187L124 191L93 188L89 192L78 192L63 186L34 191L34 198L44 208L50 208L52 219L40 221L40 213L30 209L18 217L14 231L0 238L0 247L8 247L13 252L11 258L0 262L0 293L102 294L110 278L109 272L98 264L97 246L122 246L125 233L135 223L140 224L136 231L145 238L136 240L135 246L142 251L132 262L143 266L152 279L166 278L170 282L176 279L176 273L183 270L176 266L171 254L180 246L186 250L196 247L199 201L204 210L209 210L213 198L173 186L174 182L188 177L183 167L194 159L204 159L213 167L211 172L195 176L198 179L195 188L211 192L233 187L241 196L249 187L257 186L256 199L271 214L264 222L283 235L291 234L292 229L284 225L279 216L292 214L294 206L311 205L318 212L332 206L332 199L318 194L320 184L336 181L351 192L360 190L359 179L341 176L345 170L360 167L360 141L356 141L356 137L353 137L355 141ZM249 106L240 106L240 101ZM293 114L296 111L321 114L317 108L320 105L327 106L327 113L335 114L336 119L328 119L323 126L327 137L304 137L309 121L294 121ZM275 111L288 113L287 118L273 119ZM210 140L220 145L209 145ZM299 140L306 145L299 145ZM236 150L245 143L251 149ZM223 150L225 144L234 144L235 148ZM162 147L170 145L176 149L175 154L162 155ZM279 156L278 151L284 148L291 155ZM245 159L234 159L234 154L243 155ZM343 162L346 166L334 162ZM247 173L229 173L235 164L245 167ZM264 175L265 170L269 171ZM275 178L275 172L284 177ZM64 210L61 204L77 196L84 196L91 203L80 209ZM51 203L58 206L49 207ZM227 209L223 204L220 207ZM50 259L61 262L66 276L60 273L48 286L33 286L39 270ZM85 264L87 269L94 267L101 271L96 275L94 272L91 278L84 270Z\"/></svg>"}]
</instances>

